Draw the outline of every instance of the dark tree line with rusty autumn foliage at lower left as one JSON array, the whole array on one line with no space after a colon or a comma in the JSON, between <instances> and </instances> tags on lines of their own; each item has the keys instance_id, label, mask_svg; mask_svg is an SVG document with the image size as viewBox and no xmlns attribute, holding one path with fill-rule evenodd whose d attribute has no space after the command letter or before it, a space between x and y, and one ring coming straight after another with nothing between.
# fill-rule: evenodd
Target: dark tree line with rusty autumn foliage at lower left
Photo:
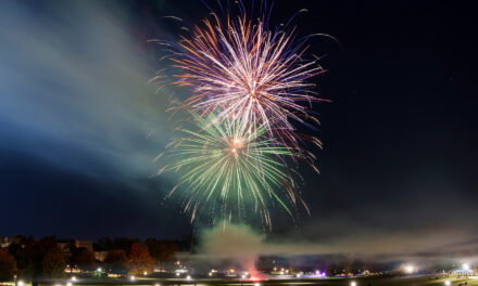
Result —
<instances>
[{"instance_id":1,"label":"dark tree line with rusty autumn foliage at lower left","mask_svg":"<svg viewBox=\"0 0 478 286\"><path fill-rule=\"evenodd\" d=\"M95 251L76 247L73 239L56 239L54 236L35 239L16 236L8 248L0 248L0 282L17 278L36 281L42 277L64 277L74 269L83 273L101 268L116 274L141 274L154 268L164 268L178 250L188 250L189 237L183 240L147 238L109 238L97 240L95 251L105 251L104 261L98 261Z\"/></svg>"}]
</instances>

